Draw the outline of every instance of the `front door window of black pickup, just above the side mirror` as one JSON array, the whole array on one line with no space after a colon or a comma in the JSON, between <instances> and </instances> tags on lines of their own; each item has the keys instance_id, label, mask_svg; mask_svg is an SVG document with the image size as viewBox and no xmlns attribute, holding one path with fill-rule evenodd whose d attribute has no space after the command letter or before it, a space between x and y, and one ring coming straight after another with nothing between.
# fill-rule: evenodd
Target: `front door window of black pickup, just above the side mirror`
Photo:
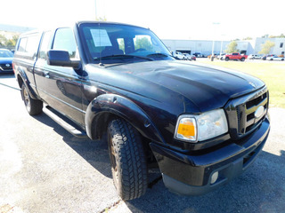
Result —
<instances>
[{"instance_id":1,"label":"front door window of black pickup, just above the side mirror","mask_svg":"<svg viewBox=\"0 0 285 213\"><path fill-rule=\"evenodd\" d=\"M59 28L56 30L53 40L53 50L69 51L70 59L77 57L77 43L71 28Z\"/></svg>"}]
</instances>

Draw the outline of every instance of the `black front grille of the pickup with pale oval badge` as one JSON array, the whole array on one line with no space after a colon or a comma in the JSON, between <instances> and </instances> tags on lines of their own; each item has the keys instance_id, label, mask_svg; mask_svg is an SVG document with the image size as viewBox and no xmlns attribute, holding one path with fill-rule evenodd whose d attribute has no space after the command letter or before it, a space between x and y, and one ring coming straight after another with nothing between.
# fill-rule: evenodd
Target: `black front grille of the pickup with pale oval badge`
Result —
<instances>
[{"instance_id":1,"label":"black front grille of the pickup with pale oval badge","mask_svg":"<svg viewBox=\"0 0 285 213\"><path fill-rule=\"evenodd\" d=\"M238 99L225 106L229 130L233 139L248 135L265 120L268 111L269 93L266 88Z\"/></svg>"}]
</instances>

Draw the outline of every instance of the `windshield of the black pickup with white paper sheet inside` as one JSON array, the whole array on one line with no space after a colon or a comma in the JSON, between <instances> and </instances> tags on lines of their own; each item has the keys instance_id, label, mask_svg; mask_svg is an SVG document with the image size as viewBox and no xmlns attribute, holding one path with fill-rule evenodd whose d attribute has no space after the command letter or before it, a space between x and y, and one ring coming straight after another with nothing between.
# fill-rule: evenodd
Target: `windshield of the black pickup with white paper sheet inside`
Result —
<instances>
[{"instance_id":1,"label":"windshield of the black pickup with white paper sheet inside","mask_svg":"<svg viewBox=\"0 0 285 213\"><path fill-rule=\"evenodd\" d=\"M79 28L92 63L173 59L167 47L149 29L107 23L85 23Z\"/></svg>"}]
</instances>

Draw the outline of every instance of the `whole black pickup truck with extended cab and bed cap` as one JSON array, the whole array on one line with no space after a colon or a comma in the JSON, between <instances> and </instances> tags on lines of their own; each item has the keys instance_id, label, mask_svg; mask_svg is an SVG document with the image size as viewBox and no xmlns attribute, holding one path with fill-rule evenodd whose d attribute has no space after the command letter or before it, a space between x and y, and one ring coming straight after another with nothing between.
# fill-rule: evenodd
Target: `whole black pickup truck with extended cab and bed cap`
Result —
<instances>
[{"instance_id":1,"label":"whole black pickup truck with extended cab and bed cap","mask_svg":"<svg viewBox=\"0 0 285 213\"><path fill-rule=\"evenodd\" d=\"M29 114L107 136L123 200L146 192L155 164L170 191L207 193L246 170L269 134L265 83L175 60L150 29L84 21L28 32L12 67Z\"/></svg>"}]
</instances>

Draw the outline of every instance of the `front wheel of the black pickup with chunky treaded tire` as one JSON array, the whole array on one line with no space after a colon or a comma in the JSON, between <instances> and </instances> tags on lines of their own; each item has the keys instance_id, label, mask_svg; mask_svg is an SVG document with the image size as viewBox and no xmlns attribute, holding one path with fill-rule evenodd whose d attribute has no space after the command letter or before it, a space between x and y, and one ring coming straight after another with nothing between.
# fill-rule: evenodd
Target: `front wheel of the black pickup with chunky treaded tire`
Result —
<instances>
[{"instance_id":1,"label":"front wheel of the black pickup with chunky treaded tire","mask_svg":"<svg viewBox=\"0 0 285 213\"><path fill-rule=\"evenodd\" d=\"M141 197L147 189L148 170L138 131L124 120L111 121L108 147L113 181L119 196L124 201Z\"/></svg>"}]
</instances>

